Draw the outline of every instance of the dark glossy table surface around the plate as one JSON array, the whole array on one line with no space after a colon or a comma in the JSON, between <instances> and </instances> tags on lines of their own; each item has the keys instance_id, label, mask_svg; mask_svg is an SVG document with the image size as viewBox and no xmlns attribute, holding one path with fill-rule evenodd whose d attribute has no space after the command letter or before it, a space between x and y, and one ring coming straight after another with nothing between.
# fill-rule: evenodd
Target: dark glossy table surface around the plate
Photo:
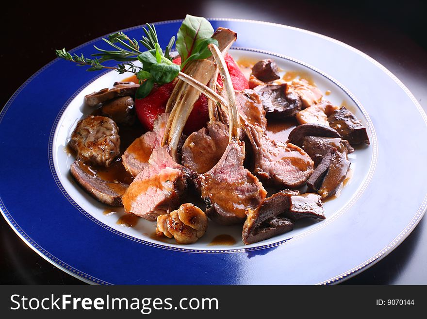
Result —
<instances>
[{"instance_id":1,"label":"dark glossy table surface around the plate","mask_svg":"<svg viewBox=\"0 0 427 319\"><path fill-rule=\"evenodd\" d=\"M13 3L12 3L13 2ZM34 72L72 49L114 31L185 17L244 18L307 29L341 40L391 70L427 110L427 30L423 1L98 1L9 2L2 8L1 107ZM297 3L290 3L297 2ZM66 7L65 7L66 6ZM7 79L7 80L6 80ZM427 172L422 172L426 174ZM1 180L0 183L6 183ZM0 218L1 284L82 284L30 249ZM343 284L427 284L427 220L376 265Z\"/></svg>"}]
</instances>

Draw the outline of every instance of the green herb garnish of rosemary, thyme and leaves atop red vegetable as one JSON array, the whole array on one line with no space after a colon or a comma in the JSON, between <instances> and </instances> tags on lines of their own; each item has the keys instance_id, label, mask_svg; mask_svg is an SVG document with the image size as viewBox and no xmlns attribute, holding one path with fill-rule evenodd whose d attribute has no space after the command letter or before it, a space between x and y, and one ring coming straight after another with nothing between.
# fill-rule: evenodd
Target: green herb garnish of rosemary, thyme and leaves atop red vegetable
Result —
<instances>
[{"instance_id":1,"label":"green herb garnish of rosemary, thyme and leaves atop red vegetable","mask_svg":"<svg viewBox=\"0 0 427 319\"><path fill-rule=\"evenodd\" d=\"M154 84L172 82L189 62L211 56L208 45L210 43L218 44L217 40L211 38L213 34L211 24L203 17L187 15L178 31L177 38L172 36L164 51L160 47L154 25L147 24L147 28L143 27L143 30L145 35L139 41L131 39L123 32L110 34L108 38L102 39L110 49L105 50L94 46L98 52L92 54L93 58L71 54L65 48L55 52L59 58L74 62L78 66L88 66L87 71L113 69L120 74L134 73L140 82L136 98L142 99L151 92ZM175 39L177 39L176 48L181 56L181 67L175 65L170 56ZM141 51L140 44L147 50ZM122 63L116 67L107 67L102 64L111 60ZM136 66L133 63L135 60L140 61L142 67Z\"/></svg>"}]
</instances>

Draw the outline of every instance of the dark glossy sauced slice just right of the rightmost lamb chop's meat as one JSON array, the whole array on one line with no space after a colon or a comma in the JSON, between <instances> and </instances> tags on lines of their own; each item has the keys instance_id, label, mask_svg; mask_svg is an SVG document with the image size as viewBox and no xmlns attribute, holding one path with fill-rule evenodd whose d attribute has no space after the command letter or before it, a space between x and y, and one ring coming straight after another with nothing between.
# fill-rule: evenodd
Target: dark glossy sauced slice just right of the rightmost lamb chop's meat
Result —
<instances>
[{"instance_id":1,"label":"dark glossy sauced slice just right of the rightmost lamb chop's meat","mask_svg":"<svg viewBox=\"0 0 427 319\"><path fill-rule=\"evenodd\" d=\"M331 147L314 170L307 182L307 186L310 190L317 192L322 198L335 195L345 180L350 164L345 154Z\"/></svg>"}]
</instances>

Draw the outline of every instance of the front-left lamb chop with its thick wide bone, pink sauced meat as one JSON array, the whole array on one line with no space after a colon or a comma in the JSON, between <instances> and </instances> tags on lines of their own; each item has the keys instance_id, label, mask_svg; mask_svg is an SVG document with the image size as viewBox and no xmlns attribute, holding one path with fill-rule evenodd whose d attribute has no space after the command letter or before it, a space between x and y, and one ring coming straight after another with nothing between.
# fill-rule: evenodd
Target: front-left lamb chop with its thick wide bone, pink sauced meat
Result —
<instances>
[{"instance_id":1,"label":"front-left lamb chop with its thick wide bone, pink sauced meat","mask_svg":"<svg viewBox=\"0 0 427 319\"><path fill-rule=\"evenodd\" d=\"M227 51L236 34L220 28L213 37L221 43L222 50ZM215 75L215 69L211 60L195 60L186 66L186 74L181 73L181 77L188 77L198 85L208 84ZM152 149L148 164L136 175L122 198L127 212L148 220L155 220L159 215L176 209L187 189L189 178L187 171L178 164L178 149L183 127L200 92L180 80L166 105L166 113L170 112L170 116L162 142Z\"/></svg>"}]
</instances>

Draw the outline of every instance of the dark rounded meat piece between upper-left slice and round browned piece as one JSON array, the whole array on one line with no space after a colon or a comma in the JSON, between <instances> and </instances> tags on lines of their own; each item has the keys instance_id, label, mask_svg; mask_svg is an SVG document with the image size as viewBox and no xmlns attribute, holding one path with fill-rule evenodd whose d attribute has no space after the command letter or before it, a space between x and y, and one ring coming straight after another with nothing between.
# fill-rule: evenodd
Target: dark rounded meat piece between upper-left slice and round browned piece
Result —
<instances>
[{"instance_id":1,"label":"dark rounded meat piece between upper-left slice and round browned piece","mask_svg":"<svg viewBox=\"0 0 427 319\"><path fill-rule=\"evenodd\" d=\"M132 125L135 122L135 102L130 96L102 103L101 112L117 124Z\"/></svg>"}]
</instances>

